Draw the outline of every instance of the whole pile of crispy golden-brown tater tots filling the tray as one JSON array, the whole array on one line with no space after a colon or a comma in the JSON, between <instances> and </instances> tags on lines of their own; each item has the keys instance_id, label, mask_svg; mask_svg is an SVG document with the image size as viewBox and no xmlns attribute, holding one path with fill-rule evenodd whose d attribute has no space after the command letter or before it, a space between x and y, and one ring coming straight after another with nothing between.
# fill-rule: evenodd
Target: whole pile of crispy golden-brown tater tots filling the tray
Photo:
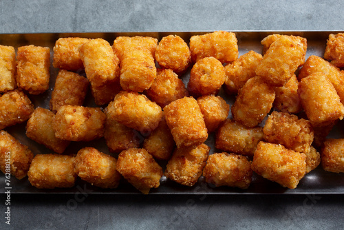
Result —
<instances>
[{"instance_id":1,"label":"whole pile of crispy golden-brown tater tots filling the tray","mask_svg":"<svg viewBox=\"0 0 344 230\"><path fill-rule=\"evenodd\" d=\"M50 48L21 46L16 55L0 45L1 171L10 165L12 176L39 189L74 187L78 177L103 189L127 180L143 194L162 176L248 189L257 174L294 189L319 165L343 173L344 138L327 135L344 117L344 34L330 34L323 57L308 59L301 36L271 34L261 45L262 54L239 56L235 33L225 31L189 41L118 36L112 46L60 38L49 109L30 96L49 89ZM87 94L98 106L85 106ZM51 151L36 154L6 131L19 123ZM87 146L100 138L105 153ZM85 145L67 154L73 142Z\"/></svg>"}]
</instances>

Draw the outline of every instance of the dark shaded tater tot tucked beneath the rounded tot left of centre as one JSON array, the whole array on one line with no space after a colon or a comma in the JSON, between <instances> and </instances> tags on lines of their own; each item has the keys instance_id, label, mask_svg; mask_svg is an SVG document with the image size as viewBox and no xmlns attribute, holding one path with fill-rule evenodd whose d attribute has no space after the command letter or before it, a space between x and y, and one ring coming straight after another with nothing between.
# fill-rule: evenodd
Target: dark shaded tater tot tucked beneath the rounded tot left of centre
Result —
<instances>
[{"instance_id":1,"label":"dark shaded tater tot tucked beneath the rounded tot left of centre","mask_svg":"<svg viewBox=\"0 0 344 230\"><path fill-rule=\"evenodd\" d=\"M120 153L120 151L131 147L140 147L140 141L142 140L140 140L140 134L137 131L111 119L107 109L105 109L105 114L107 119L105 122L104 138L107 147L109 147L109 151Z\"/></svg>"}]
</instances>

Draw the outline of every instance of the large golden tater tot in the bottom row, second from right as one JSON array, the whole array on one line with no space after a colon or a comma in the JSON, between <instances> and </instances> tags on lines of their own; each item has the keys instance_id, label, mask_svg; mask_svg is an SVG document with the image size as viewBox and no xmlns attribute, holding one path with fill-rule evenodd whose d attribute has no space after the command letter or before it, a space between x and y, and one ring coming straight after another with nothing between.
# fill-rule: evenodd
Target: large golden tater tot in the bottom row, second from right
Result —
<instances>
[{"instance_id":1,"label":"large golden tater tot in the bottom row, second from right","mask_svg":"<svg viewBox=\"0 0 344 230\"><path fill-rule=\"evenodd\" d=\"M253 156L251 168L260 176L283 187L295 189L305 176L306 156L283 145L261 141Z\"/></svg>"}]
</instances>

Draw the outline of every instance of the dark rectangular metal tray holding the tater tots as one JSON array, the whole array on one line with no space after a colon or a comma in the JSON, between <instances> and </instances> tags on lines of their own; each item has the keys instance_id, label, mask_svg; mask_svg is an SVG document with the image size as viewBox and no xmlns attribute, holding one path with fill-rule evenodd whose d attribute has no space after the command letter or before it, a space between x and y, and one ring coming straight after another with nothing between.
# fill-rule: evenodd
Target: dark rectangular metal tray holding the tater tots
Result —
<instances>
[{"instance_id":1,"label":"dark rectangular metal tray holding the tater tots","mask_svg":"<svg viewBox=\"0 0 344 230\"><path fill-rule=\"evenodd\" d=\"M260 43L261 39L268 36L269 34L293 34L298 36L303 36L308 41L308 50L306 54L306 58L310 55L316 56L323 56L323 52L326 46L326 40L330 33L338 33L341 31L299 31L299 32L292 32L292 31L233 31L235 32L238 45L239 45L239 56L245 54L250 50L254 50L255 52L262 52L262 45ZM112 45L116 36L153 36L157 39L161 39L164 36L169 34L178 34L181 36L184 41L189 42L191 36L195 34L205 34L206 32L130 32L130 33L74 33L74 34L67 34L67 33L54 33L54 34L0 34L0 44L1 45L12 45L14 48L17 48L21 45L41 45L47 46L50 48L50 61L52 63L52 56L55 41L60 37L67 37L67 36L79 36L79 37L87 37L87 38L103 38ZM54 88L54 82L56 79L56 75L58 73L58 69L50 67L50 89L47 92L39 95L28 95L32 103L34 103L35 107L44 107L49 109L49 101L50 95ZM186 72L182 76L182 80L184 83L189 81L189 72ZM219 96L225 98L228 104L233 105L235 101L234 96L228 96L224 93L223 90L220 90ZM87 94L85 106L89 107L96 107L96 104L93 101L91 94ZM231 118L231 114L228 116ZM12 134L15 138L19 139L21 143L24 145L28 145L29 148L34 152L34 154L47 154L52 153L50 149L45 148L43 145L39 145L35 143L33 140L30 140L25 136L25 125L26 123L14 125L12 127L6 128L10 134ZM264 122L261 124L264 125ZM329 134L331 138L344 138L344 133L342 130L344 127L344 121L338 122L338 125L332 129L332 132ZM143 139L143 138L142 138ZM214 152L221 152L220 150L215 149L215 136L214 134L209 135L208 140L206 140L206 144L211 147L210 154ZM107 146L105 144L105 140L102 138L100 140L93 140L88 143L85 142L78 142L72 143L67 147L65 154L76 154L78 149L82 147L96 147L100 151L103 151L106 154L110 154ZM118 154L111 154L117 158ZM166 162L159 162L160 165L164 168L166 166ZM12 194L140 194L138 190L136 190L133 186L129 184L125 179L122 179L120 185L117 189L100 189L98 187L94 187L83 180L78 178L76 180L76 185L72 188L67 189L36 189L30 185L28 178L23 178L22 180L17 180L14 176L11 176L11 193ZM0 192L3 193L6 190L6 183L5 183L5 175L0 175ZM198 195L198 196L205 196L205 195L219 195L219 194L344 194L344 174L334 174L331 172L324 171L321 166L311 171L309 174L305 175L305 177L299 182L299 185L296 189L286 189L278 185L276 182L271 182L258 176L257 174L253 174L252 183L250 187L246 190L241 190L237 188L231 187L213 187L212 185L208 185L204 178L201 176L200 180L198 180L197 184L193 187L186 187L179 185L176 182L166 179L164 176L160 180L160 187L158 189L151 189L149 194L185 194L185 195Z\"/></svg>"}]
</instances>

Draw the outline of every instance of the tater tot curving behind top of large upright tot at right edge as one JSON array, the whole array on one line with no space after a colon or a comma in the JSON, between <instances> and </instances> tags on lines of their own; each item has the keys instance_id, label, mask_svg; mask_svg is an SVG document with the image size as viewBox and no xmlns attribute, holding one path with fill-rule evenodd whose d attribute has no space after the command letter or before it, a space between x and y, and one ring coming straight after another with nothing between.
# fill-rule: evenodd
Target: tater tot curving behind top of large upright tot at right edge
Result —
<instances>
[{"instance_id":1,"label":"tater tot curving behind top of large upright tot at right edge","mask_svg":"<svg viewBox=\"0 0 344 230\"><path fill-rule=\"evenodd\" d=\"M328 61L325 61L319 56L310 56L305 64L302 66L299 75L299 81L301 79L310 76L310 74L319 73L325 76L336 89L337 94L341 98L341 102L344 102L344 75L341 71L331 65Z\"/></svg>"}]
</instances>

